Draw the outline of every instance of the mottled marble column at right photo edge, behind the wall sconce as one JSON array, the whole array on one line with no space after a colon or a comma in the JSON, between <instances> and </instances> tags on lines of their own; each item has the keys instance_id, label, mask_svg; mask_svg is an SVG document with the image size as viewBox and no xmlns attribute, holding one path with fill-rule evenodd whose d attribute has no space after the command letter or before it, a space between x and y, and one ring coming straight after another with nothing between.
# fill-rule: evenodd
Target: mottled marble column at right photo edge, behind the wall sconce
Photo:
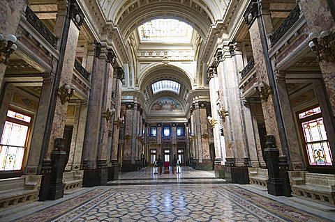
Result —
<instances>
[{"instance_id":1,"label":"mottled marble column at right photo edge, behind the wall sconce","mask_svg":"<svg viewBox=\"0 0 335 222\"><path fill-rule=\"evenodd\" d=\"M322 31L335 32L335 21L332 17L332 9L329 7L327 0L300 0L300 6L304 11L304 17L308 26L309 33ZM320 40L320 38L319 38ZM334 51L334 45L330 49ZM334 54L334 53L333 53ZM325 57L328 55L326 54ZM333 58L334 59L334 58ZM322 72L323 80L327 94L329 97L329 103L332 109L333 124L335 122L335 63L328 61L327 58L321 58L320 70Z\"/></svg>"}]
</instances>

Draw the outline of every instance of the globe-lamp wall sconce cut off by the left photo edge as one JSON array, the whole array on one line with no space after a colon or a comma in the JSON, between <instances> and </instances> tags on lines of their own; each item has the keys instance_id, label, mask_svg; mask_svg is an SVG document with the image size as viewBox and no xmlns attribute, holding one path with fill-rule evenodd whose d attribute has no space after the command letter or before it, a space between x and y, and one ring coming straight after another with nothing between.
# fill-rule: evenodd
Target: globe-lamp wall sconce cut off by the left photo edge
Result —
<instances>
[{"instance_id":1,"label":"globe-lamp wall sconce cut off by the left photo edge","mask_svg":"<svg viewBox=\"0 0 335 222\"><path fill-rule=\"evenodd\" d=\"M0 34L0 63L8 65L10 55L17 49L17 45L15 44L16 40L15 35L9 34L5 39L3 35Z\"/></svg>"}]
</instances>

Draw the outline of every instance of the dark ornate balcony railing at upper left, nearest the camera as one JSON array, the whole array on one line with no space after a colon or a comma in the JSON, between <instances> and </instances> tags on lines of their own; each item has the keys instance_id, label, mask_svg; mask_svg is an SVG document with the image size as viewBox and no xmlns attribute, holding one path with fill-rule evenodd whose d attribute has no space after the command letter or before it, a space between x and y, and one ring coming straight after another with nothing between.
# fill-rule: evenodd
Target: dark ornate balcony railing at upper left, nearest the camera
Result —
<instances>
[{"instance_id":1,"label":"dark ornate balcony railing at upper left, nearest the camera","mask_svg":"<svg viewBox=\"0 0 335 222\"><path fill-rule=\"evenodd\" d=\"M58 41L57 37L54 36L54 34L49 29L47 29L43 22L40 21L37 15L35 15L35 13L29 7L26 9L26 17L27 22L29 22L29 24L31 24L31 26L33 26L34 29L36 29L36 31L38 31L38 33L40 33L40 35L42 35L43 38L45 38L45 40L50 43L50 45L56 48Z\"/></svg>"}]
</instances>

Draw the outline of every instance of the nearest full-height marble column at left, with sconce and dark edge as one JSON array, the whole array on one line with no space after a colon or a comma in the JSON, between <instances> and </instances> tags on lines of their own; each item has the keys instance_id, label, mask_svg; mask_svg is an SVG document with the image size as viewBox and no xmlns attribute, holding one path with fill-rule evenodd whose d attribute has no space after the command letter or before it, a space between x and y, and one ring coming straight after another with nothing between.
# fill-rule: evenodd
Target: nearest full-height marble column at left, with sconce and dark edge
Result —
<instances>
[{"instance_id":1,"label":"nearest full-height marble column at left, with sconce and dark edge","mask_svg":"<svg viewBox=\"0 0 335 222\"><path fill-rule=\"evenodd\" d=\"M50 174L50 169L52 157L58 158L55 156L55 152L53 152L54 149L62 147L62 145L60 145L59 148L57 148L55 141L56 139L60 141L59 139L64 136L68 99L71 95L70 92L73 93L73 90L70 90L67 86L70 86L72 81L75 49L77 47L80 26L82 26L84 22L84 14L76 1L64 4L69 8L69 10L66 10L68 15L64 15L65 13L62 14L64 10L59 8L56 20L56 24L59 24L59 22L64 24L64 29L55 29L54 31L54 33L57 36L61 36L61 38L59 44L59 61L57 63L54 79L52 79L50 104L48 104L43 142L41 144L40 163L42 162L43 165L41 171L43 178L40 188L40 200L50 199L53 195L50 192L59 192L59 189L62 189L61 186L52 182L54 181L54 174ZM76 19L74 19L74 17L76 17ZM61 33L61 35L59 35L59 33ZM61 153L58 154L61 155ZM51 171L56 171L56 169L52 168ZM61 168L61 171L64 171L64 166ZM57 178L57 180L62 180L62 178Z\"/></svg>"}]
</instances>

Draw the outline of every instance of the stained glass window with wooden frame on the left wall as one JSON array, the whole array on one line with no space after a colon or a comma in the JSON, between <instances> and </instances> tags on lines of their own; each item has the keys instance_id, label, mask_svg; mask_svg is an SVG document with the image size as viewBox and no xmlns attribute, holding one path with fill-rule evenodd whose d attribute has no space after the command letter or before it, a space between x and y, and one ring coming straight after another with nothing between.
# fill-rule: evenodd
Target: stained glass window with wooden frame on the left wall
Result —
<instances>
[{"instance_id":1,"label":"stained glass window with wooden frame on the left wall","mask_svg":"<svg viewBox=\"0 0 335 222\"><path fill-rule=\"evenodd\" d=\"M7 116L22 122L31 121L31 117L10 110ZM21 170L28 130L27 125L5 122L0 141L0 171Z\"/></svg>"}]
</instances>

